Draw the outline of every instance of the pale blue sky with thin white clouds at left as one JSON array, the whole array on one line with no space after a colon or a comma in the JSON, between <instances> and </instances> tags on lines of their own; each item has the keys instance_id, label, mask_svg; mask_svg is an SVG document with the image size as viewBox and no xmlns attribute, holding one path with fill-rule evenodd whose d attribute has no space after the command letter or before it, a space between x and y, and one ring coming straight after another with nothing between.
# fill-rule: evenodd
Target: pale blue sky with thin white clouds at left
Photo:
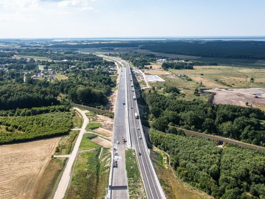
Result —
<instances>
[{"instance_id":1,"label":"pale blue sky with thin white clouds at left","mask_svg":"<svg viewBox=\"0 0 265 199\"><path fill-rule=\"evenodd\" d=\"M265 0L0 0L0 38L265 36Z\"/></svg>"}]
</instances>

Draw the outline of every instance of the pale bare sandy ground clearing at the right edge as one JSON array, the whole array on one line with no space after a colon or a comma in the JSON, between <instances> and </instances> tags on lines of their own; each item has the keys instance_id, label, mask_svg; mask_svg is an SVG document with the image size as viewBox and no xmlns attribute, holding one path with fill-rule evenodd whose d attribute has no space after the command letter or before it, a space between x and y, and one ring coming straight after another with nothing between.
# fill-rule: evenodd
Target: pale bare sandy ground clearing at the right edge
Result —
<instances>
[{"instance_id":1,"label":"pale bare sandy ground clearing at the right edge","mask_svg":"<svg viewBox=\"0 0 265 199\"><path fill-rule=\"evenodd\" d=\"M211 89L215 92L213 103L215 104L231 104L238 106L249 106L262 109L265 111L265 88L236 88L236 89ZM258 95L258 98L255 98Z\"/></svg>"}]
</instances>

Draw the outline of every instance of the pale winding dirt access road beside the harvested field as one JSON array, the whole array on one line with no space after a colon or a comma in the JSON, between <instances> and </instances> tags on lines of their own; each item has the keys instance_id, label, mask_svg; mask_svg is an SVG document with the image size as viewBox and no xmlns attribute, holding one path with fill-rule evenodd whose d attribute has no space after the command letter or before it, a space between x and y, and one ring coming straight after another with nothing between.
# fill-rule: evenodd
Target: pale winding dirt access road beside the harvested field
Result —
<instances>
[{"instance_id":1,"label":"pale winding dirt access road beside the harvested field","mask_svg":"<svg viewBox=\"0 0 265 199\"><path fill-rule=\"evenodd\" d=\"M53 199L62 199L64 197L64 195L65 195L65 192L66 192L66 189L68 187L68 184L70 183L71 168L72 168L73 163L74 163L74 161L76 159L76 156L78 154L79 145L81 143L83 134L86 132L85 131L85 127L89 123L89 120L88 120L88 118L85 115L85 113L87 113L88 111L81 111L78 108L74 108L74 110L79 111L79 113L83 117L84 122L82 124L80 133L78 135L77 141L76 141L75 146L74 146L74 149L73 149L72 153L69 155L69 159L67 161L66 167L65 167L65 169L63 171L63 175L62 175L62 177L60 179L60 182L58 184L58 187L57 187L57 190L56 190L56 192L54 194Z\"/></svg>"}]
</instances>

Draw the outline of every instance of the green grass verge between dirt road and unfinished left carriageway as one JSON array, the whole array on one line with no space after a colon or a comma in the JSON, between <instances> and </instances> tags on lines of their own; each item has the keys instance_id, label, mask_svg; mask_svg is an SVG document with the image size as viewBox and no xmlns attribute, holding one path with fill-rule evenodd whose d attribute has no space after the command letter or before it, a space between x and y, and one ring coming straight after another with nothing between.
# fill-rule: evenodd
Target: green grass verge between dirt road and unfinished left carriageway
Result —
<instances>
[{"instance_id":1,"label":"green grass verge between dirt road and unfinished left carriageway","mask_svg":"<svg viewBox=\"0 0 265 199\"><path fill-rule=\"evenodd\" d=\"M82 141L86 142L82 150L94 150L79 153L65 199L103 199L108 186L111 161L109 149L104 148L99 158L101 147L85 137Z\"/></svg>"}]
</instances>

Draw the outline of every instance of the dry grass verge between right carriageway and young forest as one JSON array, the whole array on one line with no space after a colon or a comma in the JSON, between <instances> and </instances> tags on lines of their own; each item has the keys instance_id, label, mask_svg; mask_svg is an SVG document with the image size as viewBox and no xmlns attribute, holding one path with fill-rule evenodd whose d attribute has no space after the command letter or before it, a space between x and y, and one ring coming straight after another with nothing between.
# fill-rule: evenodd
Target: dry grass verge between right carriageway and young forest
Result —
<instances>
[{"instance_id":1,"label":"dry grass verge between right carriageway and young forest","mask_svg":"<svg viewBox=\"0 0 265 199\"><path fill-rule=\"evenodd\" d=\"M151 151L151 159L167 199L213 199L178 179L169 166L168 156L163 151L154 148Z\"/></svg>"}]
</instances>

